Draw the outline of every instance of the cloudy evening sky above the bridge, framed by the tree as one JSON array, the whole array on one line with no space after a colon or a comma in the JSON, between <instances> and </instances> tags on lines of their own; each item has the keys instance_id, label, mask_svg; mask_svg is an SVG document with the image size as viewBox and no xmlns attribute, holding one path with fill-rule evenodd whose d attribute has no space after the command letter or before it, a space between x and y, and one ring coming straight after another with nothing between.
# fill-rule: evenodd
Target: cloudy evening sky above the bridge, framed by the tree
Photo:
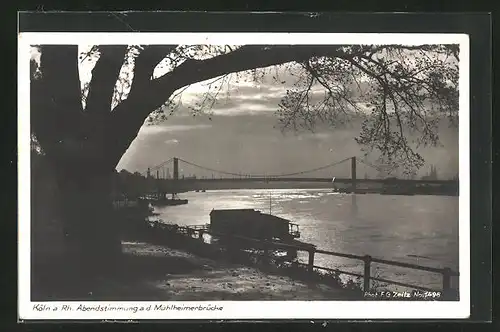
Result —
<instances>
[{"instance_id":1,"label":"cloudy evening sky above the bridge, framed by the tree","mask_svg":"<svg viewBox=\"0 0 500 332\"><path fill-rule=\"evenodd\" d=\"M80 46L85 51L88 46ZM36 58L38 54L33 52ZM80 63L82 85L91 77L95 59ZM156 73L158 74L158 73ZM277 84L272 76L280 75ZM207 82L198 83L182 95L182 105L166 121L145 124L137 138L123 155L117 170L145 172L171 157L179 157L205 167L243 174L280 174L313 169L351 156L361 156L361 147L355 142L360 122L346 127L323 126L316 132L282 133L275 111L287 87L296 77L285 72L269 71L260 82L232 79L211 110L211 115L193 117L189 105L205 92ZM319 88L314 88L322 93ZM425 175L431 164L442 178L458 173L458 131L442 124L440 147L419 150L426 165L419 175ZM169 171L172 171L170 165ZM166 172L166 167L162 170ZM211 176L181 163L185 175ZM350 165L318 172L318 176L349 176ZM358 177L377 172L358 166Z\"/></svg>"}]
</instances>

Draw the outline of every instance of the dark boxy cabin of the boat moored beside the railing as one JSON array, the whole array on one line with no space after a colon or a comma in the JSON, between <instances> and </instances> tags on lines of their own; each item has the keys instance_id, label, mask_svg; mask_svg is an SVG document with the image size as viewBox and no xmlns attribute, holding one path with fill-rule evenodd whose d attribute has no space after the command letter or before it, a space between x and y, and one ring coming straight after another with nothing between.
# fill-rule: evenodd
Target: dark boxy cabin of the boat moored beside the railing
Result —
<instances>
[{"instance_id":1,"label":"dark boxy cabin of the boat moored beside the railing","mask_svg":"<svg viewBox=\"0 0 500 332\"><path fill-rule=\"evenodd\" d=\"M291 240L300 237L297 224L254 209L212 210L210 230L256 239Z\"/></svg>"}]
</instances>

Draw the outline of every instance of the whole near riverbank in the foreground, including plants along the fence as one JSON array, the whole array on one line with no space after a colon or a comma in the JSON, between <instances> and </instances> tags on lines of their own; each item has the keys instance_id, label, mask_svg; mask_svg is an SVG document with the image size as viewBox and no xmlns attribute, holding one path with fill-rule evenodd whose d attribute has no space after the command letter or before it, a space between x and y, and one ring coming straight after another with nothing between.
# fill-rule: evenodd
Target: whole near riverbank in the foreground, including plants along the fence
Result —
<instances>
[{"instance_id":1,"label":"whole near riverbank in the foreground, including plants along the fence","mask_svg":"<svg viewBox=\"0 0 500 332\"><path fill-rule=\"evenodd\" d=\"M35 267L33 300L370 299L363 297L362 278L342 280L338 270L311 271L272 251L245 250L241 242L207 243L175 224L129 219L122 227L122 254L105 266L65 271L67 264L53 261ZM376 284L371 287L385 288Z\"/></svg>"}]
</instances>

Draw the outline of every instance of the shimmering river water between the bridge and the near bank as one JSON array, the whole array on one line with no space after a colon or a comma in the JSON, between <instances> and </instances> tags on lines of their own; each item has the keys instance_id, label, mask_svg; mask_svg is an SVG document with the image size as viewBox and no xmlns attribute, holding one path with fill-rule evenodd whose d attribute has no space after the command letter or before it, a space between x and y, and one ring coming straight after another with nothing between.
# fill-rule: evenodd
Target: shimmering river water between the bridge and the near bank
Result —
<instances>
[{"instance_id":1,"label":"shimmering river water between the bridge and the near bank","mask_svg":"<svg viewBox=\"0 0 500 332\"><path fill-rule=\"evenodd\" d=\"M165 222L203 225L212 209L252 208L299 224L318 249L458 271L458 197L351 195L324 189L189 192L189 204L157 208ZM306 255L299 259L307 262ZM363 274L361 261L317 254L315 265ZM440 289L439 274L372 265L372 276ZM458 280L452 280L453 286ZM400 289L389 286L387 288Z\"/></svg>"}]
</instances>

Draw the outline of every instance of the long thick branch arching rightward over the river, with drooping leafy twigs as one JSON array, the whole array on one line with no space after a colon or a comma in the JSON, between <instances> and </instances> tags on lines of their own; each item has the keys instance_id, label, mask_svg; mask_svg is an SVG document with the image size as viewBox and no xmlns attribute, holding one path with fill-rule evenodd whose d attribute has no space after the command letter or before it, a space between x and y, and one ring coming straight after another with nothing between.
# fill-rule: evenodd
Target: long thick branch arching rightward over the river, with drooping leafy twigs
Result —
<instances>
[{"instance_id":1,"label":"long thick branch arching rightward over the river, with drooping leafy twigs","mask_svg":"<svg viewBox=\"0 0 500 332\"><path fill-rule=\"evenodd\" d=\"M332 86L329 84L329 80L332 79L340 79L341 83L347 84L348 80L345 79L345 75L342 73L345 71L351 71L345 73L346 75L352 75L352 70L357 70L357 72L361 72L367 77L373 79L376 85L380 85L382 90L378 91L378 96L373 96L380 104L377 105L376 111L378 112L378 116L373 124L372 128L366 128L365 133L361 137L361 142L364 144L372 145L380 149L381 151L387 152L390 156L396 153L398 149L397 144L401 143L391 141L393 138L390 126L390 118L389 110L387 109L388 98L392 99L393 103L399 102L396 100L397 97L400 97L399 94L395 94L391 89L402 89L403 92L408 94L414 94L415 98L418 100L416 102L421 103L421 98L428 98L426 96L420 95L420 89L429 89L430 95L433 95L432 90L436 90L439 88L439 85L436 85L434 82L440 79L445 79L449 77L450 74L447 72L437 74L432 76L432 73L427 73L430 78L422 81L423 84L418 84L420 78L416 75L419 74L419 70L427 72L427 69L434 68L431 67L419 67L419 70L416 71L407 71L403 67L405 64L401 64L400 67L397 66L398 62L393 62L390 65L384 61L378 61L378 59L373 59L371 56L376 52L386 52L384 53L386 58L391 58L392 56L398 55L391 53L391 50L396 50L400 56L403 56L401 53L402 50L421 50L421 51L429 51L436 52L436 54L444 54L443 48L436 45L421 45L421 46L405 46L405 45L383 45L383 46L344 46L344 45L325 45L325 46L311 46L311 45L286 45L286 46L262 46L262 45L250 45L250 46L242 46L230 53L222 54L218 56L214 56L205 60L195 60L195 59L186 59L179 66L174 68L171 72L157 78L151 80L152 70L154 70L153 65L145 66L148 67L150 72L147 74L141 74L144 77L144 81L148 81L147 89L140 89L140 93L136 94L134 98L129 98L125 100L121 105L119 105L115 112L113 113L113 117L119 119L120 123L130 123L128 129L123 128L123 135L130 137L130 141L133 140L135 134L138 132L144 119L151 114L155 109L158 109L161 105L163 105L174 93L185 86L189 86L190 84L207 81L210 79L214 79L217 77L223 77L225 75L237 72L244 72L255 68L265 68L269 66L281 65L290 62L298 62L298 63L310 63L306 62L310 59L315 61L316 67L309 67L309 73L312 75L313 81L317 80L323 87L325 87L330 92L330 96L332 95ZM392 55L391 55L392 54ZM368 56L367 56L368 55ZM331 59L331 60L329 60ZM342 61L336 61L339 59L346 60L344 64ZM431 59L424 59L424 61L432 61ZM348 64L347 66L345 64ZM396 64L396 66L393 66ZM324 68L329 68L326 70ZM319 69L322 71L319 71ZM307 68L306 68L307 69ZM439 66L438 66L439 69ZM140 72L139 67L136 68L137 72ZM137 75L137 73L135 74ZM141 76L139 75L139 76ZM139 77L138 76L138 77ZM354 77L354 81L359 85L359 82L356 81ZM393 81L396 81L395 83ZM312 83L308 82L308 83ZM430 86L432 85L433 86ZM428 86L427 86L428 85ZM436 85L436 87L434 87ZM309 86L310 89L310 86ZM308 90L308 89L307 89ZM307 91L306 90L306 91ZM389 92L393 92L392 94L388 94ZM410 91L411 90L411 91ZM374 91L375 92L375 91ZM405 93L402 93L404 95ZM338 98L332 100L332 102L336 106L346 105L345 102L350 103L350 105L354 108L357 105L352 103L352 100L349 99L350 96L347 94L338 94ZM288 96L288 92L287 92ZM293 108L300 106L304 102L303 95L297 97L294 96L293 93L288 96L289 103L285 106ZM286 98L286 97L285 97ZM343 101L342 101L343 100ZM345 101L345 102L344 102ZM294 102L298 102L299 105L293 104ZM326 104L321 104L320 107L325 108ZM415 103L415 106L420 105ZM309 106L306 105L309 109ZM331 105L328 105L331 107ZM335 106L335 105L334 105ZM396 106L396 112L400 109L399 105ZM296 110L297 111L297 110ZM301 109L304 111L304 109ZM415 110L417 111L417 110ZM418 112L416 112L418 113ZM286 114L286 113L285 113ZM310 114L304 113L301 114L306 119ZM399 117L401 114L396 114ZM402 113L403 118L397 118L396 121L398 125L402 125L405 120L405 113ZM417 114L418 116L419 114ZM134 120L133 120L134 119ZM295 123L293 123L295 125ZM402 128L400 128L402 130ZM382 133L379 133L382 131ZM125 133L127 132L127 133ZM403 135L400 131L399 135ZM120 134L121 135L121 134ZM371 135L371 137L368 137ZM128 146L130 142L120 142L120 145ZM403 142L404 143L404 142ZM117 149L116 151L119 151ZM408 152L408 150L404 150L404 152ZM413 157L412 157L413 158Z\"/></svg>"}]
</instances>

